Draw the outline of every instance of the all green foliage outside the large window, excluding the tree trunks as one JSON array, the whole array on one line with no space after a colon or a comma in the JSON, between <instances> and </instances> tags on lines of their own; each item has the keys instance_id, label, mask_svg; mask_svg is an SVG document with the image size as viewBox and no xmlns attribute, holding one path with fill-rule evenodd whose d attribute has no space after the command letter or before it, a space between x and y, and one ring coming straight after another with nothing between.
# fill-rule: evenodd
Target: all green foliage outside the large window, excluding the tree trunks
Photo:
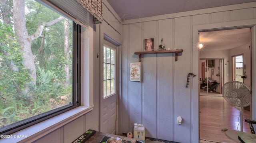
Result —
<instances>
[{"instance_id":1,"label":"all green foliage outside the large window, excluding the tree trunks","mask_svg":"<svg viewBox=\"0 0 256 143\"><path fill-rule=\"evenodd\" d=\"M29 35L35 33L40 23L60 17L58 13L34 0L25 2L26 30ZM0 130L1 127L72 102L72 84L64 87L64 65L67 63L72 78L72 34L69 37L70 59L66 59L63 23L61 21L44 29L43 47L42 38L32 41L31 49L36 65L36 85L32 85L31 74L23 63L24 52L13 26L3 23L0 18ZM69 32L72 33L72 26Z\"/></svg>"}]
</instances>

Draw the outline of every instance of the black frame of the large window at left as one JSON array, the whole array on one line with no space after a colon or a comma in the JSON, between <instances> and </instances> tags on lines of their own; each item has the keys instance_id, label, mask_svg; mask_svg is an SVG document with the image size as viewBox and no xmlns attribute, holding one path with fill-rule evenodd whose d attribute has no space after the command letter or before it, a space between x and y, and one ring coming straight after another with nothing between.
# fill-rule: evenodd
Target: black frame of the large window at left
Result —
<instances>
[{"instance_id":1,"label":"black frame of the large window at left","mask_svg":"<svg viewBox=\"0 0 256 143\"><path fill-rule=\"evenodd\" d=\"M38 2L37 0L35 0L36 2ZM42 3L41 3L42 4ZM44 6L48 6L46 4L44 4ZM48 6L49 8L49 6ZM55 7L56 8L56 7ZM53 10L55 10L54 8L52 8ZM58 9L59 11L59 9ZM63 11L63 10L62 10ZM56 10L55 10L56 12ZM64 12L64 11L63 11ZM71 19L72 20L72 19ZM15 127L9 128L9 129L5 129L3 131L0 132L0 135L10 135L14 132L20 131L22 129L25 129L27 127L30 127L31 125L35 125L37 123L40 123L42 121L45 121L47 119L53 118L55 116L58 116L64 112L67 112L69 110L72 110L74 108L77 108L78 106L81 106L81 25L76 24L73 20L73 56L72 56L72 70L73 70L73 87L72 87L72 104L73 105L65 105L62 106L60 108L57 108L58 110L50 110L48 112L44 112L43 114L40 114L40 116L38 118L35 118L36 116L33 116L32 118L35 119L31 119L30 121L26 121L22 120L22 121L18 121L15 122L13 124L18 124ZM21 123L24 122L24 123ZM11 125L11 124L10 124Z\"/></svg>"}]
</instances>

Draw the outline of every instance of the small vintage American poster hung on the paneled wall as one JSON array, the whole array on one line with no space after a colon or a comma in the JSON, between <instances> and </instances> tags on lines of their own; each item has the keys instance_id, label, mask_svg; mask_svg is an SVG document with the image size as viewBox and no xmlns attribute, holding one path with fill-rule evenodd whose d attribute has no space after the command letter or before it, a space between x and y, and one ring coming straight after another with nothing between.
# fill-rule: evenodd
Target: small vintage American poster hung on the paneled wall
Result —
<instances>
[{"instance_id":1,"label":"small vintage American poster hung on the paneled wall","mask_svg":"<svg viewBox=\"0 0 256 143\"><path fill-rule=\"evenodd\" d=\"M140 62L130 63L130 81L141 81Z\"/></svg>"}]
</instances>

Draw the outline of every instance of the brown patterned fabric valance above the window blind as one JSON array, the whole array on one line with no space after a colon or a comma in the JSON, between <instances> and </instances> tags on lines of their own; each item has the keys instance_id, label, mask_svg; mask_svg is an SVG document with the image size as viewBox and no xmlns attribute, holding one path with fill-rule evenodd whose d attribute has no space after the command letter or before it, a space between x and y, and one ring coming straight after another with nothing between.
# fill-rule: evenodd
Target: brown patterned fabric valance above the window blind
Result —
<instances>
[{"instance_id":1,"label":"brown patterned fabric valance above the window blind","mask_svg":"<svg viewBox=\"0 0 256 143\"><path fill-rule=\"evenodd\" d=\"M93 24L101 24L103 22L102 0L76 0L76 2L94 16Z\"/></svg>"}]
</instances>

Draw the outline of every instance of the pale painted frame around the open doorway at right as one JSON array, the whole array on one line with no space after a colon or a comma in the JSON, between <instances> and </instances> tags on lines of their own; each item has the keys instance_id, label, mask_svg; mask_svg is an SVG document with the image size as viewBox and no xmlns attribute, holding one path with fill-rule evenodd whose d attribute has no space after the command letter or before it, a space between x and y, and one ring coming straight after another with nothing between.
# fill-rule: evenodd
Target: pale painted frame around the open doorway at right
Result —
<instances>
[{"instance_id":1,"label":"pale painted frame around the open doorway at right","mask_svg":"<svg viewBox=\"0 0 256 143\"><path fill-rule=\"evenodd\" d=\"M206 30L223 30L223 29L237 29L237 28L251 28L251 59L252 63L256 62L256 19L252 20L241 20L235 22L223 22L223 23L216 23L216 24L203 24L203 25L194 25L192 27L192 41L193 43L199 43L198 32L206 31ZM193 73L198 74L198 64L199 64L199 48L198 44L192 44L192 62L191 62L191 71ZM256 119L256 65L251 65L251 74L252 74L252 119ZM198 84L198 77L192 81L194 86L191 89L191 97L192 97L192 109L193 112L192 116L192 129L193 133L193 141L192 142L199 142L199 84Z\"/></svg>"}]
</instances>

